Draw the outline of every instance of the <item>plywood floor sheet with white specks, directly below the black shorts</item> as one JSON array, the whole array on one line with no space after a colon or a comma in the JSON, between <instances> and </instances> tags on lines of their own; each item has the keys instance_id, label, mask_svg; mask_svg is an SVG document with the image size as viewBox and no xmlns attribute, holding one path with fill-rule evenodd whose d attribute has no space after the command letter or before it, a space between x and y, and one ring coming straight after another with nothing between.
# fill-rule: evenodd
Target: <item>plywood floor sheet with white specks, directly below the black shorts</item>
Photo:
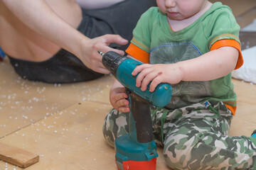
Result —
<instances>
[{"instance_id":1,"label":"plywood floor sheet with white specks, directly below the black shorts","mask_svg":"<svg viewBox=\"0 0 256 170\"><path fill-rule=\"evenodd\" d=\"M110 87L112 81L110 76L77 84L27 81L18 77L5 58L0 62L0 138L79 101L95 101L91 96Z\"/></svg>"}]
</instances>

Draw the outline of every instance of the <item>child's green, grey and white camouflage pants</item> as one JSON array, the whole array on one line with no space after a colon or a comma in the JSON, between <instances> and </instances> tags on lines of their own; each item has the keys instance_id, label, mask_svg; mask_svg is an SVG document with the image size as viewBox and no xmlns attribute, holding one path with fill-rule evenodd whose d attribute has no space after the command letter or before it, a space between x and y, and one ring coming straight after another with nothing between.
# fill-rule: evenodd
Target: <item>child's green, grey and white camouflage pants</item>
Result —
<instances>
[{"instance_id":1,"label":"child's green, grey and white camouflage pants","mask_svg":"<svg viewBox=\"0 0 256 170\"><path fill-rule=\"evenodd\" d=\"M154 140L172 169L256 169L256 139L228 136L233 115L222 102L151 109L151 118ZM128 120L129 113L114 109L107 115L103 135L110 145L128 132Z\"/></svg>"}]
</instances>

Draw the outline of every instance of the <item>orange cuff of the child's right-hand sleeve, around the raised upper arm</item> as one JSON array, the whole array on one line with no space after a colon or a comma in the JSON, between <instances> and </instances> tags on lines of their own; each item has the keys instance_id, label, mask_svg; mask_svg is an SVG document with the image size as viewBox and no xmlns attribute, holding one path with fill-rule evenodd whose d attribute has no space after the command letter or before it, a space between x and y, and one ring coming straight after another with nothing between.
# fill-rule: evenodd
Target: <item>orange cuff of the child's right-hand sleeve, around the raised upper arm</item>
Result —
<instances>
[{"instance_id":1,"label":"orange cuff of the child's right-hand sleeve, around the raised upper arm","mask_svg":"<svg viewBox=\"0 0 256 170\"><path fill-rule=\"evenodd\" d=\"M210 47L210 51L212 50L216 50L220 47L225 47L225 46L229 46L229 47L235 47L236 49L238 49L239 51L239 57L238 57L238 62L235 66L235 69L239 69L242 64L243 64L243 59L242 59L242 52L241 52L241 46L240 43L236 40L230 40L230 39L223 39L223 40L218 40L216 41L211 47Z\"/></svg>"}]
</instances>

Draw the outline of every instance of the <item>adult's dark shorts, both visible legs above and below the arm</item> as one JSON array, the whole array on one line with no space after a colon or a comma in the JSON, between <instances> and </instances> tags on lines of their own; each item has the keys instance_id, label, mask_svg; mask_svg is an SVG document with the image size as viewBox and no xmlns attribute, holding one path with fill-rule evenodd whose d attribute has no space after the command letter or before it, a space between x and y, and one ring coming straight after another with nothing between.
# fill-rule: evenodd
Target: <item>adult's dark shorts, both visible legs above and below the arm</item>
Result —
<instances>
[{"instance_id":1,"label":"adult's dark shorts, both visible legs above and below the arm","mask_svg":"<svg viewBox=\"0 0 256 170\"><path fill-rule=\"evenodd\" d=\"M126 0L107 8L82 9L82 22L78 30L88 38L105 34L118 34L132 39L132 30L139 17L149 7L156 6L155 0ZM110 47L125 50L128 45L111 44ZM31 81L46 83L73 83L89 81L103 74L92 71L72 53L60 49L53 57L43 62L17 60L9 56L16 73Z\"/></svg>"}]
</instances>

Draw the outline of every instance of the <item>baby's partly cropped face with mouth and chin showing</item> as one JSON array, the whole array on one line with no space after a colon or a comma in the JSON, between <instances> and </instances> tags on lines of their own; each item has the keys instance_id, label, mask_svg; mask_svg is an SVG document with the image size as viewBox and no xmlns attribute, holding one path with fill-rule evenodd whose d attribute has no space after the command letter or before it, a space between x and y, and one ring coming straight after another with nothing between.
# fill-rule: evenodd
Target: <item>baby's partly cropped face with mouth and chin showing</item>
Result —
<instances>
[{"instance_id":1,"label":"baby's partly cropped face with mouth and chin showing","mask_svg":"<svg viewBox=\"0 0 256 170\"><path fill-rule=\"evenodd\" d=\"M206 8L207 0L156 0L156 4L170 20L181 21Z\"/></svg>"}]
</instances>

